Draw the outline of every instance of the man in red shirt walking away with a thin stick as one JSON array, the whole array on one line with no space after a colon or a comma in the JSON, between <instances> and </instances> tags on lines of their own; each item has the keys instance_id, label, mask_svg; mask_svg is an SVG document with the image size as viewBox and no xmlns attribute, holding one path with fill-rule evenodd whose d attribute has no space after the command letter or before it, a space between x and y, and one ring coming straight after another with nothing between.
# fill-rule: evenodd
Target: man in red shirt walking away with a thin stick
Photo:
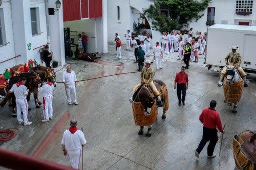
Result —
<instances>
[{"instance_id":1,"label":"man in red shirt walking away with a thin stick","mask_svg":"<svg viewBox=\"0 0 256 170\"><path fill-rule=\"evenodd\" d=\"M207 158L214 158L216 154L213 154L215 145L218 141L217 129L221 133L225 133L222 129L221 121L219 118L218 112L215 110L216 101L210 101L210 107L202 110L202 113L199 116L200 122L203 124L202 129L202 140L198 145L198 148L195 150L195 157L199 158L199 154L202 151L205 144L209 142L207 147Z\"/></svg>"}]
</instances>

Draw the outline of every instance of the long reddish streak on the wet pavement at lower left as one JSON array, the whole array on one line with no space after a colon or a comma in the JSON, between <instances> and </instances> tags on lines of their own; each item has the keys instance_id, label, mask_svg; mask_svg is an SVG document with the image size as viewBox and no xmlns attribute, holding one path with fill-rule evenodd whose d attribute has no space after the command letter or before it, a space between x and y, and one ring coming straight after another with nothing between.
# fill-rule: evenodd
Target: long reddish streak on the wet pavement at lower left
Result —
<instances>
[{"instance_id":1,"label":"long reddish streak on the wet pavement at lower left","mask_svg":"<svg viewBox=\"0 0 256 170\"><path fill-rule=\"evenodd\" d=\"M57 121L57 123L53 126L53 128L51 128L51 130L48 132L48 134L44 137L44 139L42 140L42 142L38 145L38 147L35 149L35 151L33 152L32 156L33 157L41 157L45 151L47 150L47 148L49 147L49 144L52 143L52 141L55 140L55 137L60 133L59 130L62 130L63 127L65 126L65 121L67 119L69 119L70 114L66 113L64 115L62 115L59 120ZM62 132L61 132L62 133Z\"/></svg>"}]
</instances>

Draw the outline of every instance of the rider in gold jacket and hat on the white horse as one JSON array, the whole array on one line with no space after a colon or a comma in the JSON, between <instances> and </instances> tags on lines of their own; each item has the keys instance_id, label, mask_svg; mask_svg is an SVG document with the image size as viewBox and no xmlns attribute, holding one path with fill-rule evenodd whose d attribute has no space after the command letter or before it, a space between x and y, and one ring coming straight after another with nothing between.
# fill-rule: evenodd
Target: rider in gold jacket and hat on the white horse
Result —
<instances>
[{"instance_id":1,"label":"rider in gold jacket and hat on the white horse","mask_svg":"<svg viewBox=\"0 0 256 170\"><path fill-rule=\"evenodd\" d=\"M242 56L239 52L236 52L237 50L237 46L233 45L231 47L231 50L232 52L229 52L227 54L227 56L225 57L225 63L226 65L232 65L234 66L235 69L238 70L238 72L240 73L241 75L241 78L243 79L243 82L244 82L244 87L247 87L247 83L245 82L245 78L246 78L246 73L243 71L243 69L240 67L240 64L241 64L241 61L242 61ZM226 70L227 70L227 67L224 67L222 69L222 71L220 72L220 80L218 81L218 87L222 86L223 85L223 78L224 78L224 75L226 74Z\"/></svg>"}]
</instances>

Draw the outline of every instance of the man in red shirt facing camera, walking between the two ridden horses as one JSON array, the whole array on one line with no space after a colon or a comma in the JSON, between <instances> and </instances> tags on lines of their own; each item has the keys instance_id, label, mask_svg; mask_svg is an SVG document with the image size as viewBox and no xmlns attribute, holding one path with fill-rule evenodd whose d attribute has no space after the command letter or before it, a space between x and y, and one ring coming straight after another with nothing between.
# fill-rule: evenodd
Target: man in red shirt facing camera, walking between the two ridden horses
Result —
<instances>
[{"instance_id":1,"label":"man in red shirt facing camera, walking between the two ridden horses","mask_svg":"<svg viewBox=\"0 0 256 170\"><path fill-rule=\"evenodd\" d=\"M186 90L188 89L188 76L185 73L185 67L181 67L181 71L176 73L176 77L174 80L174 89L176 89L177 85L177 97L178 97L178 106L185 105L185 96L186 96ZM182 92L182 98L181 98L181 92Z\"/></svg>"}]
</instances>

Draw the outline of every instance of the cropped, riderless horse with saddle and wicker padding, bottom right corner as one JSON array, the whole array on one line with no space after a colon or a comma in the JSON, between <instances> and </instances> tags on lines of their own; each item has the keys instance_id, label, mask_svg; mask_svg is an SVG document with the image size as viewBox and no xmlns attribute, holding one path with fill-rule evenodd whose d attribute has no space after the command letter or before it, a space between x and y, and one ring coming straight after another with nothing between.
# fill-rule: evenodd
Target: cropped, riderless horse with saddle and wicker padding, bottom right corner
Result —
<instances>
[{"instance_id":1,"label":"cropped, riderless horse with saddle and wicker padding, bottom right corner","mask_svg":"<svg viewBox=\"0 0 256 170\"><path fill-rule=\"evenodd\" d=\"M233 157L239 170L256 169L256 133L244 130L233 137Z\"/></svg>"}]
</instances>

